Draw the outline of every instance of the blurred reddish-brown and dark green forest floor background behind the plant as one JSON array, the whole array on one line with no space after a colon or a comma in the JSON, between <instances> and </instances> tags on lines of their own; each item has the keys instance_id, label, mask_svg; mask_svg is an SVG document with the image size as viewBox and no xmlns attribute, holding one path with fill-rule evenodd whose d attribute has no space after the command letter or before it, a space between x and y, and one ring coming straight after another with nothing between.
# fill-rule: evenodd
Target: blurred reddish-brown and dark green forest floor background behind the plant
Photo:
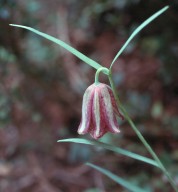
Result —
<instances>
[{"instance_id":1,"label":"blurred reddish-brown and dark green forest floor background behind the plant","mask_svg":"<svg viewBox=\"0 0 178 192\"><path fill-rule=\"evenodd\" d=\"M173 191L158 169L85 145L82 96L95 70L58 45L10 23L57 37L109 67L132 31L172 1L0 1L0 191L126 192L84 165L109 169L148 191ZM130 43L113 67L123 105L178 183L178 6ZM105 75L100 80L109 83ZM101 140L150 157L126 121ZM90 138L82 136L82 138Z\"/></svg>"}]
</instances>

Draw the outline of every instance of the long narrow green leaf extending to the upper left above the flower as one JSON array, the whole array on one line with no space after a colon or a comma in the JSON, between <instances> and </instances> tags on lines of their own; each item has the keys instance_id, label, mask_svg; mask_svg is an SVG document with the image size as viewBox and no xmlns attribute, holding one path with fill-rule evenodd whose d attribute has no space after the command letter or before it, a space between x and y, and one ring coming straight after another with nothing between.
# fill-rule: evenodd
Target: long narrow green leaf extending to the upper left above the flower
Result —
<instances>
[{"instance_id":1,"label":"long narrow green leaf extending to the upper left above the flower","mask_svg":"<svg viewBox=\"0 0 178 192\"><path fill-rule=\"evenodd\" d=\"M20 28L24 28L27 29L29 31L32 31L58 45L60 45L61 47L63 47L64 49L68 50L69 52L71 52L72 54L74 54L76 57L78 57L79 59L81 59L82 61L84 61L85 63L87 63L88 65L94 67L95 69L99 69L100 67L102 67L99 63L93 61L92 59L90 59L89 57L85 56L83 53L77 51L75 48L71 47L70 45L68 45L67 43L52 37L46 33L40 32L36 29L33 29L31 27L27 27L27 26L23 26L23 25L16 25L16 24L10 24L13 27L20 27Z\"/></svg>"}]
</instances>

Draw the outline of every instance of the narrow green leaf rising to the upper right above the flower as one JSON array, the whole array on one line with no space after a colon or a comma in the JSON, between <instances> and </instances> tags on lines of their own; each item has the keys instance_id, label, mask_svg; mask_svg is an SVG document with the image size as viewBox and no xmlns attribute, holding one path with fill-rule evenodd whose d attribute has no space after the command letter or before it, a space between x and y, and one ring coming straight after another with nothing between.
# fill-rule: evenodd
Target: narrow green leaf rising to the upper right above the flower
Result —
<instances>
[{"instance_id":1,"label":"narrow green leaf rising to the upper right above the flower","mask_svg":"<svg viewBox=\"0 0 178 192\"><path fill-rule=\"evenodd\" d=\"M152 22L154 19L156 19L159 15L161 15L162 13L164 13L167 9L169 8L169 6L165 6L164 8L162 8L161 10L159 10L158 12L156 12L155 14L153 14L151 17L149 17L146 21L144 21L139 27L137 27L134 32L131 34L131 36L128 38L128 40L125 42L125 44L122 46L122 48L119 50L119 52L117 53L117 55L114 57L110 68L113 66L114 62L118 59L118 57L121 55L121 53L124 51L124 49L127 47L127 45L130 43L130 41L146 26L148 25L150 22Z\"/></svg>"}]
</instances>

